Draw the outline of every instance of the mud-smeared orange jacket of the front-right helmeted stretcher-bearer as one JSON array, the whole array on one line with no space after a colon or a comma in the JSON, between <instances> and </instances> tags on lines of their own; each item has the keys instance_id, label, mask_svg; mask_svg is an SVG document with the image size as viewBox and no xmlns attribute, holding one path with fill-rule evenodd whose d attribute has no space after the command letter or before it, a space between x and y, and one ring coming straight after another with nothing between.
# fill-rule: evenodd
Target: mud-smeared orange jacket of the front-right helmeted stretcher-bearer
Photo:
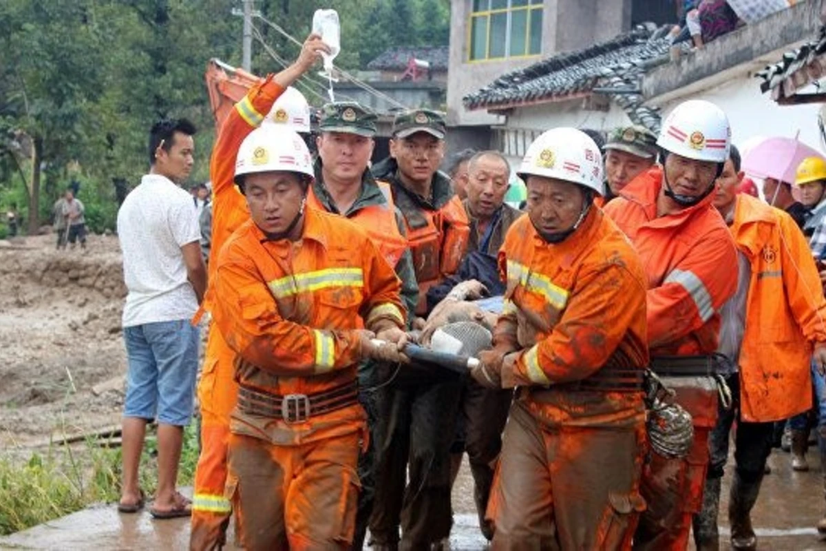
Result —
<instances>
[{"instance_id":1,"label":"mud-smeared orange jacket of the front-right helmeted stretcher-bearer","mask_svg":"<svg viewBox=\"0 0 826 551\"><path fill-rule=\"evenodd\" d=\"M507 325L516 325L524 348L516 384L582 380L612 358L623 368L648 365L643 267L598 208L558 244L521 216L508 230L499 268L507 290L496 336L512 335Z\"/></svg>"}]
</instances>

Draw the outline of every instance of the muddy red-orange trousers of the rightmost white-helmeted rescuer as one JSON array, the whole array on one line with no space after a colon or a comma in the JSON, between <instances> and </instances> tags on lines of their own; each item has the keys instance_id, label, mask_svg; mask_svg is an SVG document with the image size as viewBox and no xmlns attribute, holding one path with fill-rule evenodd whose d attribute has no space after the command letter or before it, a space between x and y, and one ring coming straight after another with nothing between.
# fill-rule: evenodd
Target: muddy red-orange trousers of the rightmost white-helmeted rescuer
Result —
<instances>
[{"instance_id":1,"label":"muddy red-orange trousers of the rightmost white-helmeted rescuer","mask_svg":"<svg viewBox=\"0 0 826 551\"><path fill-rule=\"evenodd\" d=\"M680 394L678 391L677 397ZM653 451L643 469L641 492L648 509L634 534L635 551L683 551L688 548L691 520L702 510L705 473L709 466L709 435L716 425L717 397L705 404L700 415L682 406L695 418L694 444L686 458L665 458Z\"/></svg>"}]
</instances>

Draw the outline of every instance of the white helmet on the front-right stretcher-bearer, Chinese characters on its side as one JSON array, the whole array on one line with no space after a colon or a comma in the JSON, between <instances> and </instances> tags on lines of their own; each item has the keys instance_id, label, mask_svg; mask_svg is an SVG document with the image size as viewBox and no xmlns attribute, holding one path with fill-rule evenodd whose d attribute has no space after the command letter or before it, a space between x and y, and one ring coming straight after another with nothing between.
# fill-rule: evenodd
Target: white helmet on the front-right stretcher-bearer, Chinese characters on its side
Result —
<instances>
[{"instance_id":1,"label":"white helmet on the front-right stretcher-bearer, Chinese characters on its side","mask_svg":"<svg viewBox=\"0 0 826 551\"><path fill-rule=\"evenodd\" d=\"M525 181L528 176L557 178L605 195L600 148L576 128L544 131L529 146L517 175Z\"/></svg>"}]
</instances>

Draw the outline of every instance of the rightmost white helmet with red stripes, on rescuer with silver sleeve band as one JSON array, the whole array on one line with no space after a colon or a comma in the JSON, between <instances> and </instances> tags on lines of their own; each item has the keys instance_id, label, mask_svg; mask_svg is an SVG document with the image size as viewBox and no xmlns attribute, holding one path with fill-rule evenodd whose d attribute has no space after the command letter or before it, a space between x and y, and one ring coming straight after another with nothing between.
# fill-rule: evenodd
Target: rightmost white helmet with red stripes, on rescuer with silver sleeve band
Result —
<instances>
[{"instance_id":1,"label":"rightmost white helmet with red stripes, on rescuer with silver sleeve band","mask_svg":"<svg viewBox=\"0 0 826 551\"><path fill-rule=\"evenodd\" d=\"M725 163L731 149L729 118L714 103L683 102L662 123L657 145L687 159Z\"/></svg>"}]
</instances>

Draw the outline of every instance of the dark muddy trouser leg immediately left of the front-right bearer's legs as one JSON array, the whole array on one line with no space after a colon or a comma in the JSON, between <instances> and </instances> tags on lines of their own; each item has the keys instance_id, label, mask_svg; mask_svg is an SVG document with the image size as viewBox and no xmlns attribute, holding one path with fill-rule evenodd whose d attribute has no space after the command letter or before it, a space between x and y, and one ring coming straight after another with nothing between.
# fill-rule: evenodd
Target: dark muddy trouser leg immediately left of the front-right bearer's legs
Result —
<instances>
[{"instance_id":1,"label":"dark muddy trouser leg immediately left of the front-right bearer's legs","mask_svg":"<svg viewBox=\"0 0 826 551\"><path fill-rule=\"evenodd\" d=\"M513 392L482 387L472 378L464 382L459 405L458 424L463 426L463 449L473 476L473 501L479 515L479 526L487 539L493 529L485 520L487 501L491 496L496 460L502 449L502 430L508 420ZM454 447L455 451L455 447Z\"/></svg>"}]
</instances>

